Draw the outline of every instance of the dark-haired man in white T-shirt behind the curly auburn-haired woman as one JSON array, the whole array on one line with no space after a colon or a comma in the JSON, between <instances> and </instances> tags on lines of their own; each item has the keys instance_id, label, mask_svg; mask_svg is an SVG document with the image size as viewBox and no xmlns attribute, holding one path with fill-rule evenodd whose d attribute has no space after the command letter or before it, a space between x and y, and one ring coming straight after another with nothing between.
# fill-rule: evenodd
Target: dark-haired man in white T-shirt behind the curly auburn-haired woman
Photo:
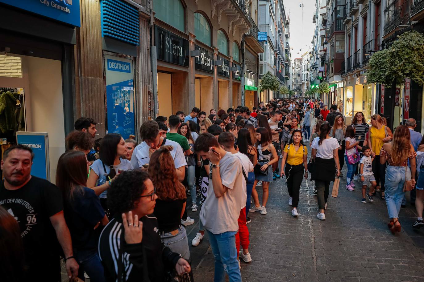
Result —
<instances>
[{"instance_id":1,"label":"dark-haired man in white T-shirt behind the curly auburn-haired woman","mask_svg":"<svg viewBox=\"0 0 424 282\"><path fill-rule=\"evenodd\" d=\"M163 145L170 145L173 150L170 151L174 160L178 180L183 181L187 162L184 158L184 153L181 146L174 141L167 140L159 133L159 126L156 121L146 120L140 127L140 135L143 142L134 148L131 164L134 168L142 167L143 164L148 164L151 154Z\"/></svg>"}]
</instances>

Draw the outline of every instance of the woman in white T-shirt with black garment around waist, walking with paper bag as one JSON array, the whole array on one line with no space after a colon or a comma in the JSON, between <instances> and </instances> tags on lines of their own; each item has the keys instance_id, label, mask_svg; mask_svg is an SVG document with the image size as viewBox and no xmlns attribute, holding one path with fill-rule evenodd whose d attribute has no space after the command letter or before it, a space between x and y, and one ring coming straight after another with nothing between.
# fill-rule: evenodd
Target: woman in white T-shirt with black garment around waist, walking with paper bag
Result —
<instances>
[{"instance_id":1,"label":"woman in white T-shirt with black garment around waist, walking with paper bag","mask_svg":"<svg viewBox=\"0 0 424 282\"><path fill-rule=\"evenodd\" d=\"M324 209L327 206L327 199L330 190L330 182L334 181L335 175L340 173L339 164L339 142L329 135L330 125L323 123L320 128L320 135L312 141L312 166L311 180L315 180L318 191L318 219L324 220ZM336 169L337 168L337 169Z\"/></svg>"}]
</instances>

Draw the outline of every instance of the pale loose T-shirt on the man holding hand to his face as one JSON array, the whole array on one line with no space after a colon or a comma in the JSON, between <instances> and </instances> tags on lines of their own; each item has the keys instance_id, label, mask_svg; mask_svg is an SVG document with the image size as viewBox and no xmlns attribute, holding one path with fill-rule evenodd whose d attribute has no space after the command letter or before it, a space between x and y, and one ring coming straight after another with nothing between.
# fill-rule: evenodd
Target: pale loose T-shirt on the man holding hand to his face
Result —
<instances>
[{"instance_id":1,"label":"pale loose T-shirt on the man holding hand to his face","mask_svg":"<svg viewBox=\"0 0 424 282\"><path fill-rule=\"evenodd\" d=\"M243 195L244 200L246 200L246 192L243 190L245 179L242 169L240 159L232 153L226 152L219 162L219 173L222 185L228 189L219 198L215 197L213 181L209 179L208 196L200 210L200 220L206 230L213 234L238 230L237 219L243 207ZM216 169L211 170L212 173L218 172Z\"/></svg>"}]
</instances>

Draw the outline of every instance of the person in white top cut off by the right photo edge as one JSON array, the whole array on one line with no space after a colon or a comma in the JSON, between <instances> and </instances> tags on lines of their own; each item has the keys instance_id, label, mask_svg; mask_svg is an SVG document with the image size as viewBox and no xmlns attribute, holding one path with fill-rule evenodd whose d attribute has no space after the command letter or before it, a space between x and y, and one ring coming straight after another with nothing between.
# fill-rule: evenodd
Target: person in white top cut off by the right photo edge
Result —
<instances>
[{"instance_id":1,"label":"person in white top cut off by the right photo edge","mask_svg":"<svg viewBox=\"0 0 424 282\"><path fill-rule=\"evenodd\" d=\"M423 221L423 200L424 200L424 138L421 139L420 145L417 149L417 170L418 181L416 184L417 197L415 199L415 208L417 210L418 219L412 227L421 228L424 226Z\"/></svg>"}]
</instances>

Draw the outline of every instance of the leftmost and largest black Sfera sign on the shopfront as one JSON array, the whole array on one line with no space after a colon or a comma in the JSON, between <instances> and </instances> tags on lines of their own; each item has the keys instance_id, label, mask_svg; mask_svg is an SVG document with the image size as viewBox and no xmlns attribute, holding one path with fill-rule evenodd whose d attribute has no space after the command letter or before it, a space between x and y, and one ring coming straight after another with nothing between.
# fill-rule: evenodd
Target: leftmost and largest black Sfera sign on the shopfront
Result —
<instances>
[{"instance_id":1,"label":"leftmost and largest black Sfera sign on the shopfront","mask_svg":"<svg viewBox=\"0 0 424 282\"><path fill-rule=\"evenodd\" d=\"M189 66L188 40L155 25L157 59L181 66Z\"/></svg>"}]
</instances>

